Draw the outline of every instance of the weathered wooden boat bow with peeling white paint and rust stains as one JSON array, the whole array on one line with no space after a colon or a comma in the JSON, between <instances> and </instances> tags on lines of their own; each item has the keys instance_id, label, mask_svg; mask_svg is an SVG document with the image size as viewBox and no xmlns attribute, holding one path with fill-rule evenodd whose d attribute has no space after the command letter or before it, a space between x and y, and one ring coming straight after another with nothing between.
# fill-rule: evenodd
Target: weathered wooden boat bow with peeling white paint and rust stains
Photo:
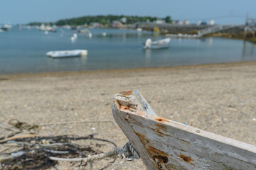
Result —
<instances>
[{"instance_id":1,"label":"weathered wooden boat bow with peeling white paint and rust stains","mask_svg":"<svg viewBox=\"0 0 256 170\"><path fill-rule=\"evenodd\" d=\"M139 91L116 94L112 113L147 169L256 169L256 146L160 118Z\"/></svg>"}]
</instances>

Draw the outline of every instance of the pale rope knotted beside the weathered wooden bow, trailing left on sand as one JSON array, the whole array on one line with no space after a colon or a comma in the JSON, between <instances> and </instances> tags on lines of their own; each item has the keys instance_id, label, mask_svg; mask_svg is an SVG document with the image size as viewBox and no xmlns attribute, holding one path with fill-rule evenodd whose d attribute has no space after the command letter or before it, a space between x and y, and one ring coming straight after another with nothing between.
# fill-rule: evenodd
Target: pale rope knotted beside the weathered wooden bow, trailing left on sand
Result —
<instances>
[{"instance_id":1,"label":"pale rope knotted beside the weathered wooden bow, trailing left on sand","mask_svg":"<svg viewBox=\"0 0 256 170\"><path fill-rule=\"evenodd\" d=\"M133 161L134 159L139 159L139 154L137 151L132 147L131 142L127 142L122 149L114 148L112 151L102 154L96 155L89 155L85 158L73 158L73 159L66 159L66 158L58 158L58 157L49 157L49 159L53 161L65 161L65 162L93 162L95 160L104 159L106 157L119 157L119 159L126 159L127 161Z\"/></svg>"}]
</instances>

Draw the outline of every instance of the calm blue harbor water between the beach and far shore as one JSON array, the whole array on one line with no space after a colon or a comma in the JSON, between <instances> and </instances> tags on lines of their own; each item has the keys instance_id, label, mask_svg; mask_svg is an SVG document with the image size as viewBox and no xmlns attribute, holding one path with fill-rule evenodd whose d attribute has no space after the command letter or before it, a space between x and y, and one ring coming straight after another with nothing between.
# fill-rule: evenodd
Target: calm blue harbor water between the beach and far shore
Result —
<instances>
[{"instance_id":1,"label":"calm blue harbor water between the beach and far shore","mask_svg":"<svg viewBox=\"0 0 256 170\"><path fill-rule=\"evenodd\" d=\"M0 33L0 74L21 72L60 72L134 67L166 67L188 64L256 60L254 44L225 38L171 39L169 48L143 50L147 38L163 35L135 30L92 29L92 38L72 30L48 33L32 28L12 28ZM107 33L106 37L102 33ZM50 50L88 50L87 57L52 59Z\"/></svg>"}]
</instances>

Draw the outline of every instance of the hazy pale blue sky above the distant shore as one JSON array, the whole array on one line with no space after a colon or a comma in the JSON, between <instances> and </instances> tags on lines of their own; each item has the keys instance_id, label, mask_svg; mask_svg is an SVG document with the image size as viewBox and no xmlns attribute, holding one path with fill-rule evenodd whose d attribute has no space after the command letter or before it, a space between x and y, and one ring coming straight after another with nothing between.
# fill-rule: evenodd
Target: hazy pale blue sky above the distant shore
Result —
<instances>
[{"instance_id":1,"label":"hazy pale blue sky above the distant shore","mask_svg":"<svg viewBox=\"0 0 256 170\"><path fill-rule=\"evenodd\" d=\"M0 23L54 22L95 15L171 16L174 20L215 19L215 23L245 23L256 18L256 0L0 0Z\"/></svg>"}]
</instances>

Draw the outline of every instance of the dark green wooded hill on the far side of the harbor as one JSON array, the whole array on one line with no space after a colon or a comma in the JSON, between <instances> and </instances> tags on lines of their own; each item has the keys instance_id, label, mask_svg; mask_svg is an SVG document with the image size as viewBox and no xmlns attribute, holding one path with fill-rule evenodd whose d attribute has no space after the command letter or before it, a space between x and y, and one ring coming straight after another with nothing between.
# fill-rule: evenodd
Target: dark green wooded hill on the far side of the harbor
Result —
<instances>
[{"instance_id":1,"label":"dark green wooded hill on the far side of the harbor","mask_svg":"<svg viewBox=\"0 0 256 170\"><path fill-rule=\"evenodd\" d=\"M62 19L55 23L47 23L49 25L55 24L56 26L82 26L82 25L89 25L90 23L102 23L102 25L110 24L113 21L120 21L124 24L131 24L136 22L153 22L157 19L164 20L166 23L171 23L171 16L166 16L165 18L157 18L151 16L114 16L114 15L107 15L107 16L82 16L78 18L70 18L70 19ZM29 26L40 26L42 23L33 22L28 23Z\"/></svg>"}]
</instances>

